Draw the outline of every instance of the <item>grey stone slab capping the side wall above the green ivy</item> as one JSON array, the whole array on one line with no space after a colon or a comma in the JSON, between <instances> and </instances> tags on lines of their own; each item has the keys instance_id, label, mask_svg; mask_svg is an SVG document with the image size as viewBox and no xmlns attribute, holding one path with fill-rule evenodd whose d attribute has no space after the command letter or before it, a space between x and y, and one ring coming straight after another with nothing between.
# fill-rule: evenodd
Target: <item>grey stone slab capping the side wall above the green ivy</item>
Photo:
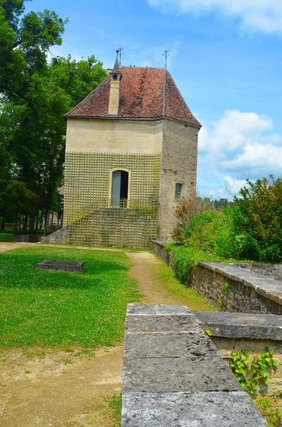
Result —
<instances>
[{"instance_id":1,"label":"grey stone slab capping the side wall above the green ivy","mask_svg":"<svg viewBox=\"0 0 282 427\"><path fill-rule=\"evenodd\" d=\"M282 341L282 316L228 312L193 312L215 337Z\"/></svg>"}]
</instances>

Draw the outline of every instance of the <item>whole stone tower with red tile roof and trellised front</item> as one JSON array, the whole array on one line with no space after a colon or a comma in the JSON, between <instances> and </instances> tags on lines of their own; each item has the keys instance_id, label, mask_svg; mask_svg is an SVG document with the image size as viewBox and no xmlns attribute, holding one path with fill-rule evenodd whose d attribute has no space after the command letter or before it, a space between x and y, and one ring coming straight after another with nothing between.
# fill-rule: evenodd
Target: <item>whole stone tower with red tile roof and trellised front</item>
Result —
<instances>
[{"instance_id":1,"label":"whole stone tower with red tile roof and trellised front","mask_svg":"<svg viewBox=\"0 0 282 427\"><path fill-rule=\"evenodd\" d=\"M165 68L121 67L66 115L70 243L169 241L175 201L195 195L200 123Z\"/></svg>"}]
</instances>

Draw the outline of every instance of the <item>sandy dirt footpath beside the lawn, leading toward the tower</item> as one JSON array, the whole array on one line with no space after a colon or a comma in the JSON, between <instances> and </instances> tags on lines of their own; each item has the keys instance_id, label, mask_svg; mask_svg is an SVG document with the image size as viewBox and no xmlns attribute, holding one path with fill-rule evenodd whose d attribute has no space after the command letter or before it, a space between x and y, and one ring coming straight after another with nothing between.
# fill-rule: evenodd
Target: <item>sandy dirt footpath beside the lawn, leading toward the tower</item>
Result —
<instances>
[{"instance_id":1,"label":"sandy dirt footpath beside the lawn, leading toward the tower","mask_svg":"<svg viewBox=\"0 0 282 427\"><path fill-rule=\"evenodd\" d=\"M22 247L1 243L0 251ZM141 303L181 304L156 281L161 264L148 252L127 253ZM120 392L122 347L95 355L58 350L11 350L0 354L0 426L115 427L106 399Z\"/></svg>"}]
</instances>

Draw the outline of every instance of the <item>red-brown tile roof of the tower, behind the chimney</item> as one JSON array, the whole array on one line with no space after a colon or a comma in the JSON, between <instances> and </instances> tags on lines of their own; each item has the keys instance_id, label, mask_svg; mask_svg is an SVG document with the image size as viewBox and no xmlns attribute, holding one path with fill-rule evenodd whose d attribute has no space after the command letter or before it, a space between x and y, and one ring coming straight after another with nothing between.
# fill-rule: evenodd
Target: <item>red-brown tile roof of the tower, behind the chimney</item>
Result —
<instances>
[{"instance_id":1,"label":"red-brown tile roof of the tower, behind the chimney","mask_svg":"<svg viewBox=\"0 0 282 427\"><path fill-rule=\"evenodd\" d=\"M158 119L168 117L201 127L183 100L173 78L165 68L121 67L119 114L124 119ZM107 118L109 85L104 80L66 117Z\"/></svg>"}]
</instances>

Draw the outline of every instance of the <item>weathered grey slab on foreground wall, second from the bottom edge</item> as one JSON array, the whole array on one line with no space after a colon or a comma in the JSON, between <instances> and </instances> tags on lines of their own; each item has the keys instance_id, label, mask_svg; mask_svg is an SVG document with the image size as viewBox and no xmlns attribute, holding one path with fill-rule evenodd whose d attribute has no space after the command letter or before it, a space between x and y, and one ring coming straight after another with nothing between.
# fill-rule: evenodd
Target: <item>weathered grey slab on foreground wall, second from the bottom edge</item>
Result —
<instances>
[{"instance_id":1,"label":"weathered grey slab on foreground wall, second from the bottom edge","mask_svg":"<svg viewBox=\"0 0 282 427\"><path fill-rule=\"evenodd\" d=\"M160 357L124 360L124 392L239 391L240 386L224 360L210 357Z\"/></svg>"}]
</instances>

